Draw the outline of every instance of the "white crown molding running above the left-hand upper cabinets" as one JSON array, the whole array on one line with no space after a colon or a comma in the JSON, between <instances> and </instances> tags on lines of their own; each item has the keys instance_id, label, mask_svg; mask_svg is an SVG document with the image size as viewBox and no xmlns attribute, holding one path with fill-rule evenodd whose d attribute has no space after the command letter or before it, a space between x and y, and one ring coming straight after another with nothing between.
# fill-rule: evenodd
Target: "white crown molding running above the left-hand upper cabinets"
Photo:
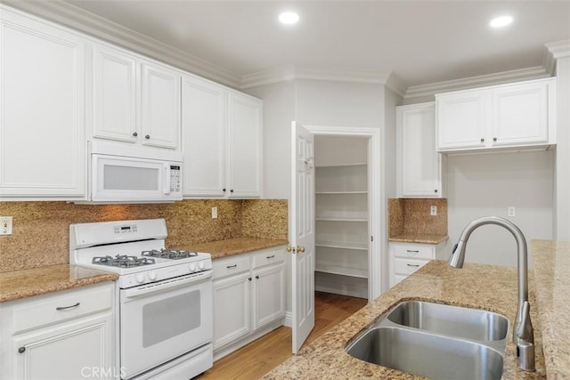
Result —
<instances>
[{"instance_id":1,"label":"white crown molding running above the left-hand upper cabinets","mask_svg":"<svg viewBox=\"0 0 570 380\"><path fill-rule=\"evenodd\" d=\"M149 36L144 36L141 33L61 0L49 2L2 0L2 3L42 19L73 28L89 36L94 36L112 44L118 44L135 53L141 53L200 77L206 77L234 88L239 88L240 86L240 76L231 70L216 66L189 53L184 53L173 46L164 44Z\"/></svg>"}]
</instances>

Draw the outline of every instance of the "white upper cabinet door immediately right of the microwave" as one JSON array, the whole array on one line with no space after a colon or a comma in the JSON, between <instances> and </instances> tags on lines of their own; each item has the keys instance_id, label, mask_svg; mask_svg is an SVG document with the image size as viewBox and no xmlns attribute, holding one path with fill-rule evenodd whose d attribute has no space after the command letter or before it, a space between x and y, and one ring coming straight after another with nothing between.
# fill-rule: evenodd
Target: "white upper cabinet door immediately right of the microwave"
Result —
<instances>
[{"instance_id":1,"label":"white upper cabinet door immediately right of the microwave","mask_svg":"<svg viewBox=\"0 0 570 380\"><path fill-rule=\"evenodd\" d=\"M183 77L182 101L183 195L224 196L227 90Z\"/></svg>"}]
</instances>

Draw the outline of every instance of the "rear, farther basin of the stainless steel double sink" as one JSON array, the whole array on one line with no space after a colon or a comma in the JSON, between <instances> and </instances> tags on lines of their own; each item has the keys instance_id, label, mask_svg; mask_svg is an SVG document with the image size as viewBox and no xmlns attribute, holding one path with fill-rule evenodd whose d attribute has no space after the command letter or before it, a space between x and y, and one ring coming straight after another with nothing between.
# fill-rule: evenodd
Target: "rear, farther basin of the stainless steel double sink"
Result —
<instances>
[{"instance_id":1,"label":"rear, farther basin of the stainless steel double sink","mask_svg":"<svg viewBox=\"0 0 570 380\"><path fill-rule=\"evenodd\" d=\"M500 341L509 329L509 319L493 311L421 301L400 303L387 319L398 325L477 341Z\"/></svg>"}]
</instances>

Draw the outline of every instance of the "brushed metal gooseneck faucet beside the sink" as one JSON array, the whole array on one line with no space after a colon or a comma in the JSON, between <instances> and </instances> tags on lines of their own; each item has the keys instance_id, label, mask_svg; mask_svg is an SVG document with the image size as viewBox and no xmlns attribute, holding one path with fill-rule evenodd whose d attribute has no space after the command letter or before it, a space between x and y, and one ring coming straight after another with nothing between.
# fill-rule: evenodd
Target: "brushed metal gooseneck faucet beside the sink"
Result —
<instances>
[{"instance_id":1,"label":"brushed metal gooseneck faucet beside the sink","mask_svg":"<svg viewBox=\"0 0 570 380\"><path fill-rule=\"evenodd\" d=\"M497 224L509 230L517 240L517 270L518 270L518 307L517 321L513 329L513 342L517 344L518 367L525 371L534 370L534 332L530 317L530 304L528 303L528 277L526 240L523 232L506 219L497 216L486 216L470 222L461 232L460 239L453 247L448 263L453 268L462 268L465 260L465 247L471 233L477 227L485 224Z\"/></svg>"}]
</instances>

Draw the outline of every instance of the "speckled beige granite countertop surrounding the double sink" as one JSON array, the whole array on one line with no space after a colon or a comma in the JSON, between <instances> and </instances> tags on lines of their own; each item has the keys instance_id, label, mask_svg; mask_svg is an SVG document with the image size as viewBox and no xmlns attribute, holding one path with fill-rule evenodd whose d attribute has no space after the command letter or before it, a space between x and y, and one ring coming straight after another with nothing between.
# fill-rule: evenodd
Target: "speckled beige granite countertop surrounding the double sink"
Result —
<instances>
[{"instance_id":1,"label":"speckled beige granite countertop surrounding the double sink","mask_svg":"<svg viewBox=\"0 0 570 380\"><path fill-rule=\"evenodd\" d=\"M511 323L509 323L502 377L504 379L545 378L541 328L538 327L541 323L537 314L532 271L529 272L529 281L531 319L535 327L536 372L524 372L518 368L517 349L511 339L513 321L517 314L517 270L474 263L466 263L463 269L454 269L447 262L434 260L392 287L387 293L368 303L312 344L304 346L297 355L274 368L264 378L419 378L419 376L395 369L357 360L345 352L346 344L362 329L379 319L396 303L406 300L446 303L495 311L505 315ZM568 306L569 304L566 303L566 310Z\"/></svg>"}]
</instances>

